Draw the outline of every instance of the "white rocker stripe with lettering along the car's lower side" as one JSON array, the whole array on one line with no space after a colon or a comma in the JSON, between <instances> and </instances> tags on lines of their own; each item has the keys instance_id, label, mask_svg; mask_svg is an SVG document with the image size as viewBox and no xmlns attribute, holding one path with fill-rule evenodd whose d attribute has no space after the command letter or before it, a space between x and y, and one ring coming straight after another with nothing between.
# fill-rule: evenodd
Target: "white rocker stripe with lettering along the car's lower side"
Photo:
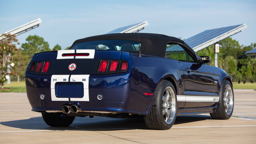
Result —
<instances>
[{"instance_id":1,"label":"white rocker stripe with lettering along the car's lower side","mask_svg":"<svg viewBox=\"0 0 256 144\"><path fill-rule=\"evenodd\" d=\"M177 95L177 101L179 102L218 102L219 98L220 98L219 96L179 96Z\"/></svg>"}]
</instances>

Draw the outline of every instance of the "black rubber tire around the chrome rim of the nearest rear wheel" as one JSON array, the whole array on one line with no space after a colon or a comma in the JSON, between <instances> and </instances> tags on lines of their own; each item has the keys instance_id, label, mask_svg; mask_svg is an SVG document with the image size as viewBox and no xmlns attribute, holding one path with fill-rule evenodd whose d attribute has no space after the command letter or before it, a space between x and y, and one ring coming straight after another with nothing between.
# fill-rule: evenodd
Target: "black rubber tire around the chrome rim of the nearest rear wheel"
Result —
<instances>
[{"instance_id":1,"label":"black rubber tire around the chrome rim of the nearest rear wheel","mask_svg":"<svg viewBox=\"0 0 256 144\"><path fill-rule=\"evenodd\" d=\"M175 114L174 114L173 120L170 124L166 123L165 118L163 116L163 112L162 112L162 108L163 108L162 97L163 97L164 91L166 90L167 87L171 87L173 89L173 91L175 93L175 103L176 103ZM176 120L176 115L177 115L176 112L178 109L176 91L175 91L173 84L168 80L162 81L162 83L158 84L158 86L156 87L154 96L155 96L154 104L152 106L150 114L144 116L144 121L145 121L146 125L148 126L148 128L150 128L150 129L168 130L172 127L172 125L174 124L174 122Z\"/></svg>"}]
</instances>

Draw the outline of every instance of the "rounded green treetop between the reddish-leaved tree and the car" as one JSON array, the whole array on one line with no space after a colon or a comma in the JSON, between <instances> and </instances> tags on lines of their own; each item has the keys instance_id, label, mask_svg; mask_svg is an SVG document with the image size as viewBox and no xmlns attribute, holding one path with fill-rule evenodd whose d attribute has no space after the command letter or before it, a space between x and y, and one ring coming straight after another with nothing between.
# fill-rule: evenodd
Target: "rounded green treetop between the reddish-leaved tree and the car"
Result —
<instances>
[{"instance_id":1,"label":"rounded green treetop between the reddish-leaved tree and the car","mask_svg":"<svg viewBox=\"0 0 256 144\"><path fill-rule=\"evenodd\" d=\"M26 43L21 45L22 51L32 58L35 53L50 51L48 42L44 41L44 38L34 35L26 38Z\"/></svg>"}]
</instances>

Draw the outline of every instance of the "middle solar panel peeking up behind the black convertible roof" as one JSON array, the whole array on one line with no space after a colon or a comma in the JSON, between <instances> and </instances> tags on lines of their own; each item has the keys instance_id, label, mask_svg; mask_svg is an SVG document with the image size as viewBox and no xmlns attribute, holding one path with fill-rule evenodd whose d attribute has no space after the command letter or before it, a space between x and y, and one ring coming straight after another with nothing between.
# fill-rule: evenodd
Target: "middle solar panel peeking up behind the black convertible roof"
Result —
<instances>
[{"instance_id":1,"label":"middle solar panel peeking up behind the black convertible roof","mask_svg":"<svg viewBox=\"0 0 256 144\"><path fill-rule=\"evenodd\" d=\"M108 32L107 34L114 34L114 33L134 33L138 32L138 30L143 30L146 26L148 26L148 22L140 22L136 24L132 24L129 26L124 26L121 28L117 28L115 30L112 30L111 32Z\"/></svg>"}]
</instances>

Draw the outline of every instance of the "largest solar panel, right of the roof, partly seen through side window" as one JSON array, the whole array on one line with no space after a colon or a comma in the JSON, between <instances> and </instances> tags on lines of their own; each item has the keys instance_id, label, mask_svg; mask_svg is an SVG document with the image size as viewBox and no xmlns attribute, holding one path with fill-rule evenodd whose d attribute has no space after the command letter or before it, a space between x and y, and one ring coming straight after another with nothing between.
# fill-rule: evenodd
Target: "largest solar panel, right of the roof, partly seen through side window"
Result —
<instances>
[{"instance_id":1,"label":"largest solar panel, right of the roof, partly seen through side window","mask_svg":"<svg viewBox=\"0 0 256 144\"><path fill-rule=\"evenodd\" d=\"M232 36L238 32L241 32L244 28L247 28L246 24L239 24L236 26L227 26L223 28L215 28L211 30L205 30L199 34L196 34L186 40L186 42L195 52L202 50L220 40L224 40L229 36ZM172 47L167 48L166 51L177 51Z\"/></svg>"}]
</instances>

